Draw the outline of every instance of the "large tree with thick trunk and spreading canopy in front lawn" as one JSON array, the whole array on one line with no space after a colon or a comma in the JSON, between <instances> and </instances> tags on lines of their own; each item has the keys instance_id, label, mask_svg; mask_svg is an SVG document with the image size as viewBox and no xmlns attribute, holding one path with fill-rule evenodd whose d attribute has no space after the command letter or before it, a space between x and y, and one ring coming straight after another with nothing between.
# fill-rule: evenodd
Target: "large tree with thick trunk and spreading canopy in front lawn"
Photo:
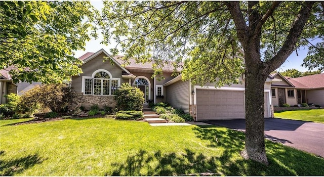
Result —
<instances>
[{"instance_id":1,"label":"large tree with thick trunk and spreading canopy in front lawn","mask_svg":"<svg viewBox=\"0 0 324 177\"><path fill-rule=\"evenodd\" d=\"M236 83L245 72L246 143L242 155L267 164L264 82L309 38L323 36L323 3L104 2L105 43L115 39L125 59L161 64L184 60L183 79ZM116 48L117 49L117 48ZM114 49L111 52L116 54ZM218 78L218 79L217 79Z\"/></svg>"}]
</instances>

